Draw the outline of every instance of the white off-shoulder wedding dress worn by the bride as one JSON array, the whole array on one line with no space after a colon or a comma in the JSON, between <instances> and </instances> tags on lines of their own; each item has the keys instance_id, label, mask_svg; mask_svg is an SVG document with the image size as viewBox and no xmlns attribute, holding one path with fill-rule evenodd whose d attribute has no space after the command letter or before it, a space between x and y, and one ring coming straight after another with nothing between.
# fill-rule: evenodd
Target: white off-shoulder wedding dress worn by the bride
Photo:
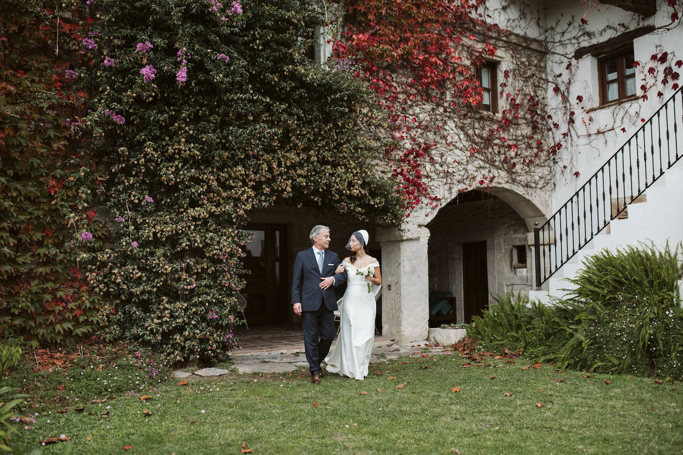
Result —
<instances>
[{"instance_id":1,"label":"white off-shoulder wedding dress worn by the bride","mask_svg":"<svg viewBox=\"0 0 683 455\"><path fill-rule=\"evenodd\" d=\"M337 342L325 359L326 369L331 373L363 379L367 376L375 339L375 295L367 292L365 276L357 275L353 264L346 261L342 264L347 274L342 321ZM379 267L380 263L375 261L368 265Z\"/></svg>"}]
</instances>

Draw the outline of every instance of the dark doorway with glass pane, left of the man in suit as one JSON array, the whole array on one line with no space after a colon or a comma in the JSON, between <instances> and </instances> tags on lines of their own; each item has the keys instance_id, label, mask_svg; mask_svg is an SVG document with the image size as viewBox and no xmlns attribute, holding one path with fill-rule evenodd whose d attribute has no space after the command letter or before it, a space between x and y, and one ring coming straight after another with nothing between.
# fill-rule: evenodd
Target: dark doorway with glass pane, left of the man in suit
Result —
<instances>
[{"instance_id":1,"label":"dark doorway with glass pane, left of the man in suit","mask_svg":"<svg viewBox=\"0 0 683 455\"><path fill-rule=\"evenodd\" d=\"M240 293L247 299L245 317L249 325L281 324L288 318L288 276L286 227L281 224L248 224L253 234L245 246L246 286Z\"/></svg>"}]
</instances>

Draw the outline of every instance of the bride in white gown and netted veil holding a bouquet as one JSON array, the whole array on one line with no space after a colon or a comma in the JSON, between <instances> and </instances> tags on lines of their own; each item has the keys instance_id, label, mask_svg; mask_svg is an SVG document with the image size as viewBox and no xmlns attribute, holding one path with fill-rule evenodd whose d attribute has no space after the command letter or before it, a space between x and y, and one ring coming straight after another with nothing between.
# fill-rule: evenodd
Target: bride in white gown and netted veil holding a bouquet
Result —
<instances>
[{"instance_id":1,"label":"bride in white gown and netted veil holding a bouquet","mask_svg":"<svg viewBox=\"0 0 683 455\"><path fill-rule=\"evenodd\" d=\"M339 336L326 357L326 369L331 373L363 379L375 338L375 297L370 284L382 284L380 263L365 252L368 235L365 229L356 231L346 244L351 255L342 261L335 273L347 272L346 292L342 306Z\"/></svg>"}]
</instances>

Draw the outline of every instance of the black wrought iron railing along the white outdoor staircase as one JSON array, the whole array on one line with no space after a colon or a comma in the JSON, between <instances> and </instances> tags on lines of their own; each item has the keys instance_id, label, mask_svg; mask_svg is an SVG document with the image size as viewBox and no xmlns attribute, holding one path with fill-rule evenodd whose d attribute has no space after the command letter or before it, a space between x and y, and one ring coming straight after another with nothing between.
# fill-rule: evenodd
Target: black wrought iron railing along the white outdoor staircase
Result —
<instances>
[{"instance_id":1,"label":"black wrought iron railing along the white outdoor staircase","mask_svg":"<svg viewBox=\"0 0 683 455\"><path fill-rule=\"evenodd\" d=\"M576 193L533 230L536 287L553 276L609 222L683 157L683 87L658 109ZM683 147L683 138L681 138Z\"/></svg>"}]
</instances>

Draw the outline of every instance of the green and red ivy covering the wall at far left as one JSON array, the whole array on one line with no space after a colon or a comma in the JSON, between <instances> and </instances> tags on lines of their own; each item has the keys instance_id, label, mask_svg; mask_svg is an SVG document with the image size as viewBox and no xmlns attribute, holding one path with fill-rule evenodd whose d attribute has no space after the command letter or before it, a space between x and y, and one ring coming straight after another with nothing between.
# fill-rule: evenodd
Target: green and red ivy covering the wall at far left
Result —
<instances>
[{"instance_id":1,"label":"green and red ivy covering the wall at far left","mask_svg":"<svg viewBox=\"0 0 683 455\"><path fill-rule=\"evenodd\" d=\"M33 344L99 321L78 261L107 241L77 120L84 18L72 1L0 0L0 334Z\"/></svg>"}]
</instances>

